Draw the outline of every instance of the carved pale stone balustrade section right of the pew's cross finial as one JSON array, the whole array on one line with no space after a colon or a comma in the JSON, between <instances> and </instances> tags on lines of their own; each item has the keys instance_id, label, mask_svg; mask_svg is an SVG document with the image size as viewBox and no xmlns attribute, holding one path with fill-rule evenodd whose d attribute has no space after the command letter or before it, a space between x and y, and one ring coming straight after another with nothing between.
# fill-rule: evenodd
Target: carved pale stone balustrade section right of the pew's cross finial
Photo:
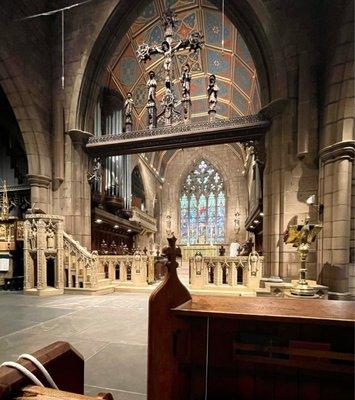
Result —
<instances>
[{"instance_id":1,"label":"carved pale stone balustrade section right of the pew's cross finial","mask_svg":"<svg viewBox=\"0 0 355 400\"><path fill-rule=\"evenodd\" d=\"M256 295L262 278L263 262L264 258L256 252L237 257L190 257L190 288Z\"/></svg>"}]
</instances>

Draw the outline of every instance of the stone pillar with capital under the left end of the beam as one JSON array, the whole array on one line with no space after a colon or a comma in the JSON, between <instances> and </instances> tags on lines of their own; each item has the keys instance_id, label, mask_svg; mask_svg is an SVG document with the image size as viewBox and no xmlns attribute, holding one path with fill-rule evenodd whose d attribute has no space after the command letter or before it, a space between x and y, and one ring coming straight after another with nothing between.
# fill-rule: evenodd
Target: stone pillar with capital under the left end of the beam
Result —
<instances>
[{"instance_id":1,"label":"stone pillar with capital under the left end of the beam","mask_svg":"<svg viewBox=\"0 0 355 400\"><path fill-rule=\"evenodd\" d=\"M88 157L84 146L91 136L90 133L81 130L71 130L69 135L73 142L72 153L72 221L70 232L81 245L91 248L91 209L90 209L90 185L87 181Z\"/></svg>"}]
</instances>

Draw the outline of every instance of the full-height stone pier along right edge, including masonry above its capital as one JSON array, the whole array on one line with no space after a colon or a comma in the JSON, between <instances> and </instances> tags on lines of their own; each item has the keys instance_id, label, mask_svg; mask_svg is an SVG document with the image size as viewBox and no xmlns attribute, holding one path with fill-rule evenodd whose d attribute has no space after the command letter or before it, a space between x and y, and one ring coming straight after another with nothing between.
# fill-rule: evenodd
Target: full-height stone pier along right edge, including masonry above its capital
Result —
<instances>
[{"instance_id":1,"label":"full-height stone pier along right edge, including masonry above its capital","mask_svg":"<svg viewBox=\"0 0 355 400\"><path fill-rule=\"evenodd\" d=\"M319 148L319 201L324 229L318 274L337 292L355 293L354 4L325 14ZM348 279L350 278L350 279Z\"/></svg>"}]
</instances>

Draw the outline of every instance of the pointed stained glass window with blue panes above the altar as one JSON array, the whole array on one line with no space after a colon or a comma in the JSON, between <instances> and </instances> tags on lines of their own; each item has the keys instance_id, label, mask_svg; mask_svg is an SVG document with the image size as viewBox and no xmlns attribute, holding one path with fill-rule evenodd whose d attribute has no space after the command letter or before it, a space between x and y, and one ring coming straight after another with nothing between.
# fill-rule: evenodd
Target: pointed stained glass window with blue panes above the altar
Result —
<instances>
[{"instance_id":1,"label":"pointed stained glass window with blue panes above the altar","mask_svg":"<svg viewBox=\"0 0 355 400\"><path fill-rule=\"evenodd\" d=\"M187 175L181 189L181 242L223 243L225 202L221 175L213 165L201 160Z\"/></svg>"}]
</instances>

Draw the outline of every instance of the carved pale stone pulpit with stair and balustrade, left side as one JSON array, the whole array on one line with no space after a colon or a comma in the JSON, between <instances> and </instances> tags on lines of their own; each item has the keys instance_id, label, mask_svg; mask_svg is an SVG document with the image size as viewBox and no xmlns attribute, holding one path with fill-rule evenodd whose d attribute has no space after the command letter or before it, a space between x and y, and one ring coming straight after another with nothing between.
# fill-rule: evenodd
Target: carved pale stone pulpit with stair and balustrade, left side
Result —
<instances>
[{"instance_id":1,"label":"carved pale stone pulpit with stair and balustrade, left side","mask_svg":"<svg viewBox=\"0 0 355 400\"><path fill-rule=\"evenodd\" d=\"M154 282L154 257L98 255L63 231L63 217L27 215L24 223L24 293L109 293Z\"/></svg>"}]
</instances>

